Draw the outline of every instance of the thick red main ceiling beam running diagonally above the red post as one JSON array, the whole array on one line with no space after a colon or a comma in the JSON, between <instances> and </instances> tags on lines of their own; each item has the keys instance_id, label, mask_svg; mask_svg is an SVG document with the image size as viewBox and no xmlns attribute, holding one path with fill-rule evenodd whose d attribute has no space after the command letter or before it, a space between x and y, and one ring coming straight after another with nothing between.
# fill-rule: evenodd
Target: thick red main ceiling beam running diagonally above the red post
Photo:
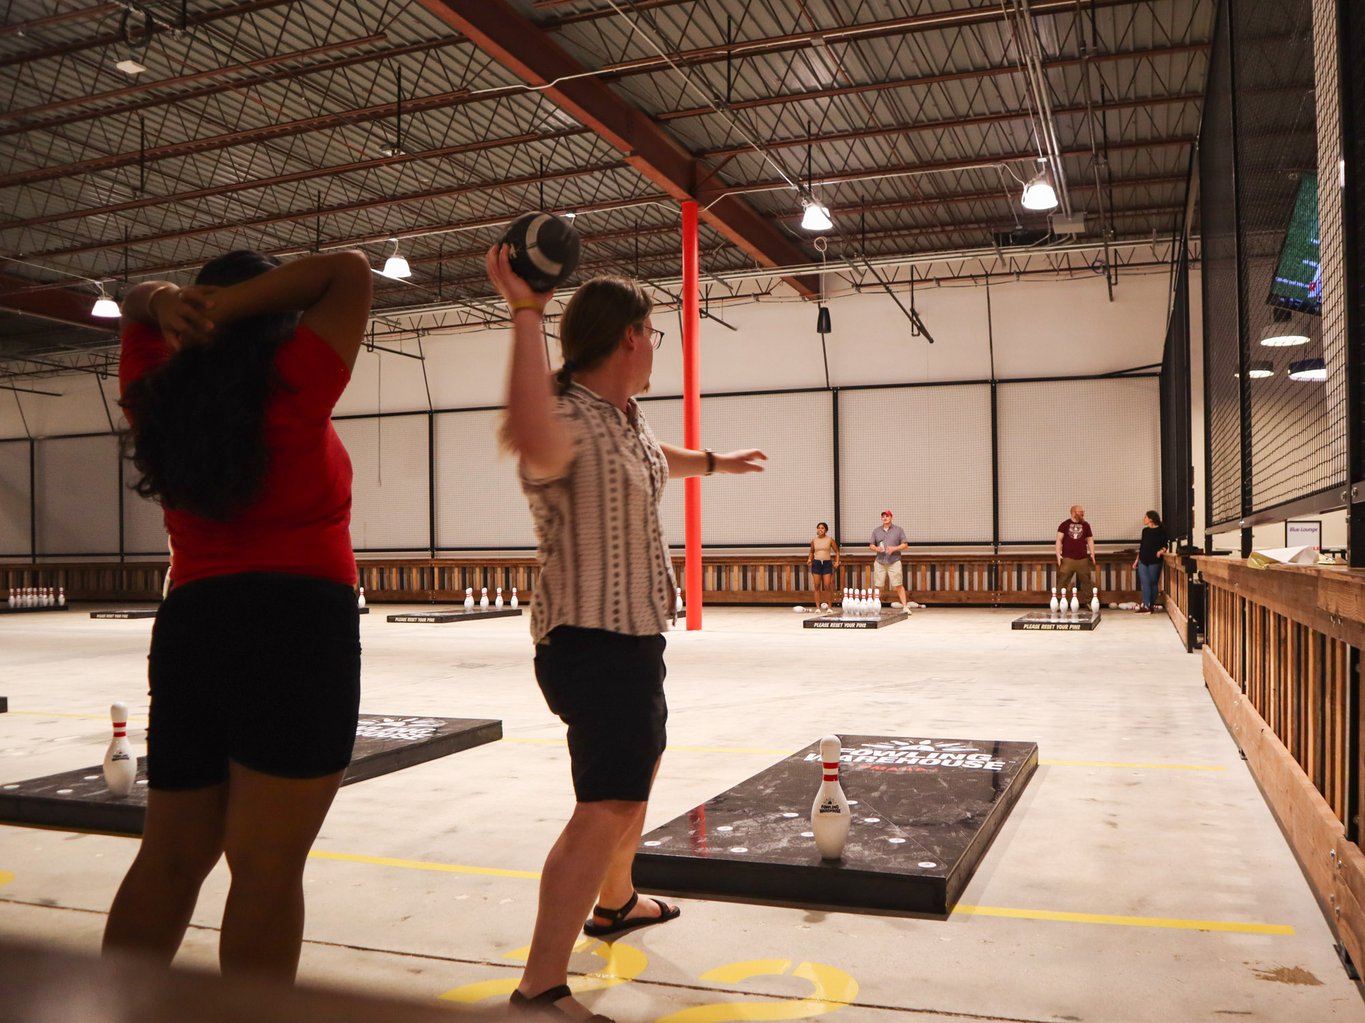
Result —
<instances>
[{"instance_id":1,"label":"thick red main ceiling beam running diagonally above the red post","mask_svg":"<svg viewBox=\"0 0 1365 1023\"><path fill-rule=\"evenodd\" d=\"M696 198L706 168L648 115L612 92L575 57L523 18L505 0L420 0L446 25L543 92L580 123L625 153L627 163L677 201ZM588 76L581 76L587 74ZM773 227L748 202L722 198L702 217L734 244L768 266L805 262L805 251ZM805 296L818 281L790 281Z\"/></svg>"}]
</instances>

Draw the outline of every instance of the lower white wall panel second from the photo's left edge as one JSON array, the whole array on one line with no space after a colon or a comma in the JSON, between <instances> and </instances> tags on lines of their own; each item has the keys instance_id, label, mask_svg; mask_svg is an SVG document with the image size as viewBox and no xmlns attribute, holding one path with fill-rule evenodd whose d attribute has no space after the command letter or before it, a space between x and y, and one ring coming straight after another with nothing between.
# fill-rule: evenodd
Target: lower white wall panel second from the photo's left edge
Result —
<instances>
[{"instance_id":1,"label":"lower white wall panel second from the photo's left edge","mask_svg":"<svg viewBox=\"0 0 1365 1023\"><path fill-rule=\"evenodd\" d=\"M51 437L37 447L40 555L119 552L119 440Z\"/></svg>"}]
</instances>

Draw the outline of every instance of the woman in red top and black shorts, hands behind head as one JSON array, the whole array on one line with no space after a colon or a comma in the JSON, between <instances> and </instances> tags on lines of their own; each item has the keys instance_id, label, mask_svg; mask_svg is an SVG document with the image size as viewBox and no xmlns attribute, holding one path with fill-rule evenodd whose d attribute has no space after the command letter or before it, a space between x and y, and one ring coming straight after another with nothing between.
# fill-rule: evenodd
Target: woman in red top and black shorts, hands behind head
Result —
<instances>
[{"instance_id":1,"label":"woman in red top and black shorts, hands behind head","mask_svg":"<svg viewBox=\"0 0 1365 1023\"><path fill-rule=\"evenodd\" d=\"M351 460L330 415L369 311L362 253L228 253L194 287L124 298L126 445L175 585L147 658L146 822L106 949L169 963L225 855L222 972L295 977L303 867L360 699Z\"/></svg>"}]
</instances>

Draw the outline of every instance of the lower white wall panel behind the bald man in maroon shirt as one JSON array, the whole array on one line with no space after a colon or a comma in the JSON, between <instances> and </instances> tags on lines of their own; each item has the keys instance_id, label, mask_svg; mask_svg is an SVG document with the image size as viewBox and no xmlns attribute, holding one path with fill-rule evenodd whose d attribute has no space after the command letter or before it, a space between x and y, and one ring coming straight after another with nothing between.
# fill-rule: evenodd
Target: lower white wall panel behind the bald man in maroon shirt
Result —
<instances>
[{"instance_id":1,"label":"lower white wall panel behind the bald man in maroon shirt","mask_svg":"<svg viewBox=\"0 0 1365 1023\"><path fill-rule=\"evenodd\" d=\"M1097 542L1136 539L1160 508L1155 377L1002 384L1001 539L1057 538L1073 504Z\"/></svg>"}]
</instances>

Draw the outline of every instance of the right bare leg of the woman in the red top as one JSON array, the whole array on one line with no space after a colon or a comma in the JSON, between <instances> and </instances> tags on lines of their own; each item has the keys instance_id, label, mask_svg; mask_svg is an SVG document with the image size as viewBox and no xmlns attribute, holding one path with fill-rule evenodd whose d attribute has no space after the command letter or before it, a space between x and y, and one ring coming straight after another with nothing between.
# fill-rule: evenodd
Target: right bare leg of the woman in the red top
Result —
<instances>
[{"instance_id":1,"label":"right bare leg of the woman in the red top","mask_svg":"<svg viewBox=\"0 0 1365 1023\"><path fill-rule=\"evenodd\" d=\"M232 765L224 851L232 886L222 912L222 972L292 981L303 945L303 867L341 772L283 779Z\"/></svg>"}]
</instances>

